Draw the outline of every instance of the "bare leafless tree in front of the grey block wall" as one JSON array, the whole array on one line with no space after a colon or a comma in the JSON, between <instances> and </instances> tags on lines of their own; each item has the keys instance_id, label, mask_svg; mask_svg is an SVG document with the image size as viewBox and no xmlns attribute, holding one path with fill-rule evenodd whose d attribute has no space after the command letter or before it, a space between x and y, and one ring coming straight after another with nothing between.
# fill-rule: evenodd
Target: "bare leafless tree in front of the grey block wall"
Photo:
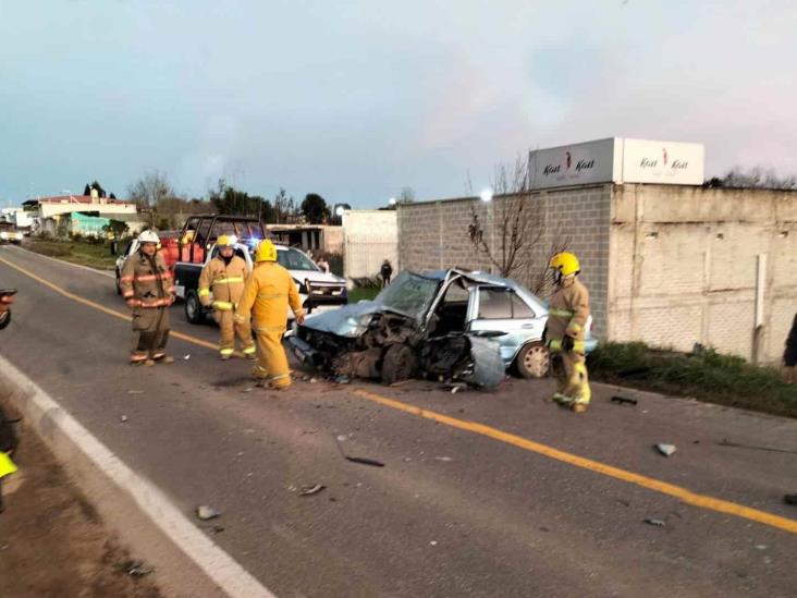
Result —
<instances>
[{"instance_id":1,"label":"bare leafless tree in front of the grey block wall","mask_svg":"<svg viewBox=\"0 0 797 598\"><path fill-rule=\"evenodd\" d=\"M553 241L545 246L544 206L531 196L528 181L526 158L518 157L512 167L498 167L494 196L471 204L467 235L477 256L483 255L500 276L524 278L532 292L541 293L550 282L551 256L564 251L568 240L549 234Z\"/></svg>"}]
</instances>

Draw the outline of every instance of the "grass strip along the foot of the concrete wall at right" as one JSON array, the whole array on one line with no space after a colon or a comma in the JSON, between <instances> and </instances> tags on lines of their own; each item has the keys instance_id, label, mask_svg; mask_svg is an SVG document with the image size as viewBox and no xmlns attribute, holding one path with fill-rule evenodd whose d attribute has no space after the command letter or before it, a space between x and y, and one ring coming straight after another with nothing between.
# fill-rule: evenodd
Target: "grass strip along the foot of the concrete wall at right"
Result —
<instances>
[{"instance_id":1,"label":"grass strip along the foot of the concrete wall at right","mask_svg":"<svg viewBox=\"0 0 797 598\"><path fill-rule=\"evenodd\" d=\"M797 387L781 373L715 351L654 350L643 343L606 343L589 356L590 377L732 407L797 417Z\"/></svg>"}]
</instances>

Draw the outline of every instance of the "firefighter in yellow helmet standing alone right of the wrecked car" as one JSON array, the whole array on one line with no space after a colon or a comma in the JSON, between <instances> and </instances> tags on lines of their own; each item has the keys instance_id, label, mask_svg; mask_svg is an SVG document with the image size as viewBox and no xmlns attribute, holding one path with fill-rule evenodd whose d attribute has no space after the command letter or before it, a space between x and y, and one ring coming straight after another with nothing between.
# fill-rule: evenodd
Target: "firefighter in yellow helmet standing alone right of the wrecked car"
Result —
<instances>
[{"instance_id":1,"label":"firefighter in yellow helmet standing alone right of the wrecked car","mask_svg":"<svg viewBox=\"0 0 797 598\"><path fill-rule=\"evenodd\" d=\"M556 254L549 264L556 290L548 310L545 339L551 353L561 355L559 391L553 400L576 413L587 411L591 390L584 355L584 327L589 318L589 293L576 278L581 270L571 253Z\"/></svg>"}]
</instances>

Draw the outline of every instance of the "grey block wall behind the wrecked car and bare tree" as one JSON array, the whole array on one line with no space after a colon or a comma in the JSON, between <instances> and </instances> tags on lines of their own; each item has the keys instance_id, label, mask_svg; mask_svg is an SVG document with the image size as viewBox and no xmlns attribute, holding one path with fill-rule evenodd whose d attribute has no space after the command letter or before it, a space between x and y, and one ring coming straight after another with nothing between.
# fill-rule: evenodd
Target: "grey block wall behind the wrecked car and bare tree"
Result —
<instances>
[{"instance_id":1,"label":"grey block wall behind the wrecked car and bare tree","mask_svg":"<svg viewBox=\"0 0 797 598\"><path fill-rule=\"evenodd\" d=\"M565 243L581 260L581 280L590 291L594 332L606 332L609 289L609 243L611 185L593 185L527 194L524 208L531 222L539 223L541 237L532 264L513 278L534 286L550 258L552 247ZM468 224L476 210L486 241L501 252L501 224L505 210L513 211L515 196L498 196L490 204L478 198L446 199L397 206L398 269L459 267L498 273L483 252L474 247ZM491 237L490 234L493 236Z\"/></svg>"}]
</instances>

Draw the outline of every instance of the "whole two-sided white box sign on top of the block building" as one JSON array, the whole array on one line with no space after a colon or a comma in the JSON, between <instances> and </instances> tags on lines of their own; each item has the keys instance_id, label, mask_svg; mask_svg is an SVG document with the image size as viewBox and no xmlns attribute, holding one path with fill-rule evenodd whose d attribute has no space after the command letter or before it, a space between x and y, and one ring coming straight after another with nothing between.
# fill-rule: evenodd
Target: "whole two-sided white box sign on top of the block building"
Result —
<instances>
[{"instance_id":1,"label":"whole two-sided white box sign on top of the block building","mask_svg":"<svg viewBox=\"0 0 797 598\"><path fill-rule=\"evenodd\" d=\"M610 137L529 152L530 188L593 183L700 185L703 146Z\"/></svg>"}]
</instances>

